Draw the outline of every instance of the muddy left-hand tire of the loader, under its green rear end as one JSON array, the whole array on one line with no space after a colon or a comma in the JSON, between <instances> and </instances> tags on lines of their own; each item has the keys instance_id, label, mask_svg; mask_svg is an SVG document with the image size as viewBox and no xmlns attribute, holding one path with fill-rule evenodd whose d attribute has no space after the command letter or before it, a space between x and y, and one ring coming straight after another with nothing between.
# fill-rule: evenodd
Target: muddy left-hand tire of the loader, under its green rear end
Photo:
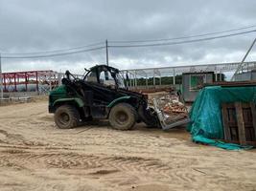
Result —
<instances>
[{"instance_id":1,"label":"muddy left-hand tire of the loader, under its green rear end","mask_svg":"<svg viewBox=\"0 0 256 191\"><path fill-rule=\"evenodd\" d=\"M78 110L71 105L59 106L55 112L55 123L59 129L70 129L79 125Z\"/></svg>"}]
</instances>

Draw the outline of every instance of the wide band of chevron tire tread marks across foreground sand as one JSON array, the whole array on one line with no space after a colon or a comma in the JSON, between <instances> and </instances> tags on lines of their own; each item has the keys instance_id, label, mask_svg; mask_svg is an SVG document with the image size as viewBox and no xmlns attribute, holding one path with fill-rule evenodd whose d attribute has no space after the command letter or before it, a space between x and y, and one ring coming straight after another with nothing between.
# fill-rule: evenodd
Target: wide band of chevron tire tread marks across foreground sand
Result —
<instances>
[{"instance_id":1,"label":"wide band of chevron tire tread marks across foreground sand","mask_svg":"<svg viewBox=\"0 0 256 191\"><path fill-rule=\"evenodd\" d=\"M172 166L159 159L145 159L124 156L94 156L77 153L29 153L0 152L0 165L3 159L9 159L29 168L63 168L63 169L93 169L111 168L121 172L137 172L144 175L154 175L163 179L192 181L188 176L176 174Z\"/></svg>"}]
</instances>

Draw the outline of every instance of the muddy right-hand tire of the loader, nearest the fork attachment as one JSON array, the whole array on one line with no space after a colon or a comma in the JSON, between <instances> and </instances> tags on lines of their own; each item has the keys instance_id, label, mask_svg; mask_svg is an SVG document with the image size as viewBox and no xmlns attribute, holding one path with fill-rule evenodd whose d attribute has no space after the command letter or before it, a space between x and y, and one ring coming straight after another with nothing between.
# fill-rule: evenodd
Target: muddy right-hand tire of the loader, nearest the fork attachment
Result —
<instances>
[{"instance_id":1,"label":"muddy right-hand tire of the loader, nearest the fork attachment","mask_svg":"<svg viewBox=\"0 0 256 191\"><path fill-rule=\"evenodd\" d=\"M108 119L114 129L130 130L137 120L137 113L128 103L119 103L111 109Z\"/></svg>"}]
</instances>

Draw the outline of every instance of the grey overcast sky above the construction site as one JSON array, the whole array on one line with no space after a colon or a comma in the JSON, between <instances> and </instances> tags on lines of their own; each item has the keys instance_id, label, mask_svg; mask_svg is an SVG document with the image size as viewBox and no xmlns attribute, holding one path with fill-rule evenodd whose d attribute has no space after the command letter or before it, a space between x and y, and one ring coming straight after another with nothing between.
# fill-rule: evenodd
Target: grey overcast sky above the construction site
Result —
<instances>
[{"instance_id":1,"label":"grey overcast sky above the construction site","mask_svg":"<svg viewBox=\"0 0 256 191\"><path fill-rule=\"evenodd\" d=\"M0 0L1 53L35 53L114 40L149 40L256 25L254 0ZM254 28L256 29L256 28ZM251 30L251 29L249 29ZM246 30L245 30L246 31ZM241 61L256 32L165 47L110 48L120 69ZM256 60L256 48L247 60ZM2 59L3 72L105 64L105 50L53 58Z\"/></svg>"}]
</instances>

